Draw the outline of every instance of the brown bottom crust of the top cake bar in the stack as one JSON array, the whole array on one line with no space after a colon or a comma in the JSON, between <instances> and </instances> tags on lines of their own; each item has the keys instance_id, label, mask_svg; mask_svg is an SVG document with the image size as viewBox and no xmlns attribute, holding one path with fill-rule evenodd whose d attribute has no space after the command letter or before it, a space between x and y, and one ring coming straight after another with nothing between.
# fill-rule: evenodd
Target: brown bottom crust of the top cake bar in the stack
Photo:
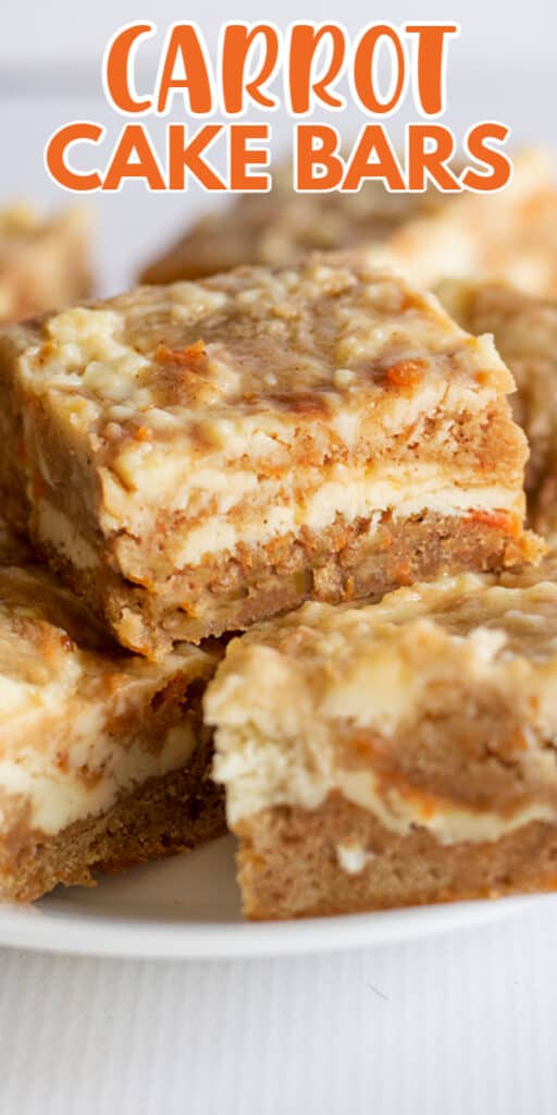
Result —
<instances>
[{"instance_id":1,"label":"brown bottom crust of the top cake bar in the stack","mask_svg":"<svg viewBox=\"0 0 557 1115\"><path fill-rule=\"evenodd\" d=\"M165 595L106 569L90 578L53 551L47 556L108 620L123 646L150 658L176 640L198 643L245 630L305 600L335 604L444 572L500 571L536 560L540 549L535 535L519 526L514 531L511 516L497 512L459 517L424 512L404 520L384 514L371 532L367 518L346 523L339 516L326 535L307 530L301 539L286 535L225 561L207 556L202 569L173 578Z\"/></svg>"}]
</instances>

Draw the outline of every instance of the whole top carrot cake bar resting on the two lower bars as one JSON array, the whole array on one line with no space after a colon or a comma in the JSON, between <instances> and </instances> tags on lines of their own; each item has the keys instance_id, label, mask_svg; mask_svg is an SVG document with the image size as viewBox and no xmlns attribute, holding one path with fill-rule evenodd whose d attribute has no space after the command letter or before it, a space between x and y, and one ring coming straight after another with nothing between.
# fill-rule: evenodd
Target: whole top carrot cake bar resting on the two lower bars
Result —
<instances>
[{"instance_id":1,"label":"whole top carrot cake bar resting on the two lower bars","mask_svg":"<svg viewBox=\"0 0 557 1115\"><path fill-rule=\"evenodd\" d=\"M13 327L0 387L7 513L147 657L539 552L491 341L359 260Z\"/></svg>"}]
</instances>

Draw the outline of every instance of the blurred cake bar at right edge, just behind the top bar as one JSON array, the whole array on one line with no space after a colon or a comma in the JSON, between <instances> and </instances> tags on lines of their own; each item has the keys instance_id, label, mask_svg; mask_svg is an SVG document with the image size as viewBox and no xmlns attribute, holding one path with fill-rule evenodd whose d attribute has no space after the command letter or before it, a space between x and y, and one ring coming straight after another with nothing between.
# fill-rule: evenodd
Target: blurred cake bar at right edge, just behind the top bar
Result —
<instances>
[{"instance_id":1,"label":"blurred cake bar at right edge, just behind the top bar","mask_svg":"<svg viewBox=\"0 0 557 1115\"><path fill-rule=\"evenodd\" d=\"M512 409L530 444L528 518L550 539L557 534L557 301L504 284L451 280L439 295L465 329L494 334L516 379Z\"/></svg>"}]
</instances>

